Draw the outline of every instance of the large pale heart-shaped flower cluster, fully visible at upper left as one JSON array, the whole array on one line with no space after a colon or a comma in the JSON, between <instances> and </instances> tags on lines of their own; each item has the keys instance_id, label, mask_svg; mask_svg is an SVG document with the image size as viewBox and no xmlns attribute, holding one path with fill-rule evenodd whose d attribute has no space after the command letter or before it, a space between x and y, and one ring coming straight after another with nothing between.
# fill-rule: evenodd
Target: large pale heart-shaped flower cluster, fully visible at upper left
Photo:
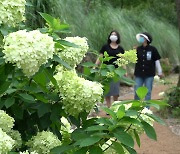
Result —
<instances>
[{"instance_id":1,"label":"large pale heart-shaped flower cluster, fully visible at upper left","mask_svg":"<svg viewBox=\"0 0 180 154\"><path fill-rule=\"evenodd\" d=\"M28 77L38 72L39 67L53 57L55 50L53 38L39 30L10 33L4 43L5 61L16 64Z\"/></svg>"}]
</instances>

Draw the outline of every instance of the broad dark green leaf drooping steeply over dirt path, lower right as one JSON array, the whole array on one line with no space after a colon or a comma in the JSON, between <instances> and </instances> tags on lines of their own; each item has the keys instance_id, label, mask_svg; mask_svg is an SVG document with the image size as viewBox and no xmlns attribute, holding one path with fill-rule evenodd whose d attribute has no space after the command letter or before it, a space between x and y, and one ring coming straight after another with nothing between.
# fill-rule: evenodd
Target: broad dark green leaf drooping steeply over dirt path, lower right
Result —
<instances>
[{"instance_id":1,"label":"broad dark green leaf drooping steeply over dirt path, lower right","mask_svg":"<svg viewBox=\"0 0 180 154\"><path fill-rule=\"evenodd\" d=\"M154 128L145 121L142 121L141 123L146 132L146 135L153 140L157 140L157 136L156 136L156 132L155 132Z\"/></svg>"}]
</instances>

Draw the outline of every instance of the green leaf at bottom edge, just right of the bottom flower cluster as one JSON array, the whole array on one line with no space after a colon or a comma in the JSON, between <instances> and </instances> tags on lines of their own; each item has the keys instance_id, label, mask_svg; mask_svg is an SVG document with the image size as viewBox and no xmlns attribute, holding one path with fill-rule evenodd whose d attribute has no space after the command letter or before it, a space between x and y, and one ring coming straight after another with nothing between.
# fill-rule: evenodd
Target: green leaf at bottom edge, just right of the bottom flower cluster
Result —
<instances>
[{"instance_id":1,"label":"green leaf at bottom edge, just right of the bottom flower cluster","mask_svg":"<svg viewBox=\"0 0 180 154\"><path fill-rule=\"evenodd\" d=\"M50 154L64 154L65 152L74 149L72 145L61 145L51 149Z\"/></svg>"}]
</instances>

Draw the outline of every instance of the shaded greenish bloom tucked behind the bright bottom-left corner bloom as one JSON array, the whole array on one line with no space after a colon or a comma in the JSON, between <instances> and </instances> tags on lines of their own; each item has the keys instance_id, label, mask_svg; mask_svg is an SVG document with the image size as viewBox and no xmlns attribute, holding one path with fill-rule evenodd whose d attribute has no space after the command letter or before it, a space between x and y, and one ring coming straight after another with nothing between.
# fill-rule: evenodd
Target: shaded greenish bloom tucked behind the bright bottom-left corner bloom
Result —
<instances>
[{"instance_id":1,"label":"shaded greenish bloom tucked behind the bright bottom-left corner bloom","mask_svg":"<svg viewBox=\"0 0 180 154\"><path fill-rule=\"evenodd\" d=\"M19 150L22 146L22 139L21 139L21 134L17 130L11 130L10 132L7 133L14 141L14 147L13 150Z\"/></svg>"}]
</instances>

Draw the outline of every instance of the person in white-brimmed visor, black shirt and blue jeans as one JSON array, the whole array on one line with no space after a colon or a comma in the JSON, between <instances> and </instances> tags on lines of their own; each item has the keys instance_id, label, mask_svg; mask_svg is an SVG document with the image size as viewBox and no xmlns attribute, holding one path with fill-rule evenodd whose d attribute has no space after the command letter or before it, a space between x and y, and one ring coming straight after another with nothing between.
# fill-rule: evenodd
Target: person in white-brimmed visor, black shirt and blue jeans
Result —
<instances>
[{"instance_id":1,"label":"person in white-brimmed visor, black shirt and blue jeans","mask_svg":"<svg viewBox=\"0 0 180 154\"><path fill-rule=\"evenodd\" d=\"M137 41L141 44L137 47L137 63L135 65L135 91L145 85L148 89L148 93L145 100L151 99L151 92L153 87L153 80L156 74L156 69L158 76L162 78L162 68L160 65L161 56L159 55L157 49L151 46L152 36L147 33L139 33L136 35ZM135 92L135 99L139 99Z\"/></svg>"}]
</instances>

